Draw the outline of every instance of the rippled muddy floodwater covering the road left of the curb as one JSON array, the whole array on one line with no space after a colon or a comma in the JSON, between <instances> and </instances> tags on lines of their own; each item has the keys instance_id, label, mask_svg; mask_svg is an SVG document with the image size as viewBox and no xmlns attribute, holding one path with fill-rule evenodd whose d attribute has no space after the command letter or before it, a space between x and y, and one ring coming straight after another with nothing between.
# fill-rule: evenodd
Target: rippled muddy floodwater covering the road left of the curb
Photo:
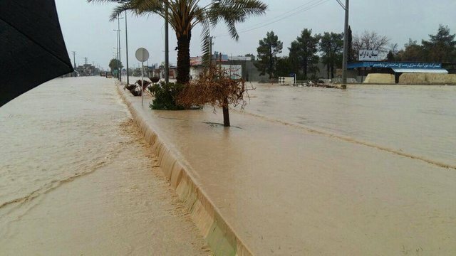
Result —
<instances>
[{"instance_id":1,"label":"rippled muddy floodwater covering the road left of the curb","mask_svg":"<svg viewBox=\"0 0 456 256\"><path fill-rule=\"evenodd\" d=\"M0 255L208 255L105 78L0 108Z\"/></svg>"}]
</instances>

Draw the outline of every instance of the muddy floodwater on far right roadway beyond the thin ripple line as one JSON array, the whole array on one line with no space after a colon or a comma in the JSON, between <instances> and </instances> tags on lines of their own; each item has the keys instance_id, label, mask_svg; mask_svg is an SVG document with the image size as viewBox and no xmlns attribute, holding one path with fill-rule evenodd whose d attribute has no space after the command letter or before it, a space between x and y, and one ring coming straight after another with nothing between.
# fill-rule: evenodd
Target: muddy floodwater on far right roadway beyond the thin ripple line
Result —
<instances>
[{"instance_id":1,"label":"muddy floodwater on far right roadway beyond the thin ripple line","mask_svg":"<svg viewBox=\"0 0 456 256\"><path fill-rule=\"evenodd\" d=\"M456 86L254 86L247 113L456 166Z\"/></svg>"}]
</instances>

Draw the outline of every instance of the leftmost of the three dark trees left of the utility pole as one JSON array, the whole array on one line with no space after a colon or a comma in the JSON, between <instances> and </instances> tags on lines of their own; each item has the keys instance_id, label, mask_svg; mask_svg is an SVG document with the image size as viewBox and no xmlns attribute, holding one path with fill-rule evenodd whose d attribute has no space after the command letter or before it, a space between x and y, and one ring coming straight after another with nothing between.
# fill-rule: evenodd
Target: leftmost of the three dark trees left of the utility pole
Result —
<instances>
[{"instance_id":1,"label":"leftmost of the three dark trees left of the utility pole","mask_svg":"<svg viewBox=\"0 0 456 256\"><path fill-rule=\"evenodd\" d=\"M260 75L269 75L269 78L274 78L277 63L277 54L282 52L284 43L279 41L279 37L274 34L274 31L266 33L266 37L259 41L257 48L259 62L256 67Z\"/></svg>"}]
</instances>

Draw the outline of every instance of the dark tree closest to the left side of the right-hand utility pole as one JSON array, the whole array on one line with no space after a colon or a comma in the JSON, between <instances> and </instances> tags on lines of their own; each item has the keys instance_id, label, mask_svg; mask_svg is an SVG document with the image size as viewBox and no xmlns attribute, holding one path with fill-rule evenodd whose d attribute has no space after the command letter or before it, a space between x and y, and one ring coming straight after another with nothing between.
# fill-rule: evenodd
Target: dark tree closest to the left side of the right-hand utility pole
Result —
<instances>
[{"instance_id":1,"label":"dark tree closest to the left side of the right-hand utility pole","mask_svg":"<svg viewBox=\"0 0 456 256\"><path fill-rule=\"evenodd\" d=\"M321 59L323 64L326 65L326 72L331 71L331 78L334 78L334 68L342 65L343 55L343 33L323 33L319 43L319 50L321 51Z\"/></svg>"}]
</instances>

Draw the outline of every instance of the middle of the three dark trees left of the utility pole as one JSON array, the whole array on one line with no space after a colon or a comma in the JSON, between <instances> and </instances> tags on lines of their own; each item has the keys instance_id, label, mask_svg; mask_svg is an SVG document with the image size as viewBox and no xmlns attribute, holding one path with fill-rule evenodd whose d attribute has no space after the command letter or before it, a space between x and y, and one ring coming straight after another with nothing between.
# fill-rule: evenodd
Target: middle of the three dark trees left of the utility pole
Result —
<instances>
[{"instance_id":1,"label":"middle of the three dark trees left of the utility pole","mask_svg":"<svg viewBox=\"0 0 456 256\"><path fill-rule=\"evenodd\" d=\"M318 41L320 35L312 36L311 29L304 29L301 36L298 36L295 41L291 42L289 48L289 58L291 63L294 63L296 70L302 68L304 80L307 80L308 73L315 73L318 70L316 64L318 63Z\"/></svg>"}]
</instances>

